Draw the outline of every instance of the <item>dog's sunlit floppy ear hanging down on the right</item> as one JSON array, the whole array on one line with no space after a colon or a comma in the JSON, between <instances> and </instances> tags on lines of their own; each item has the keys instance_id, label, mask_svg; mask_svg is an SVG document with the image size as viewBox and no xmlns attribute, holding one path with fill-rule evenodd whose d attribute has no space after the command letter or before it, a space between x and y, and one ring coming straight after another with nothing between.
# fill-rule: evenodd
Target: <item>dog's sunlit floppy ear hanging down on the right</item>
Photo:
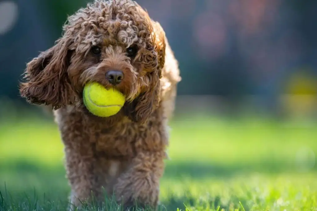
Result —
<instances>
[{"instance_id":1,"label":"dog's sunlit floppy ear hanging down on the right","mask_svg":"<svg viewBox=\"0 0 317 211\"><path fill-rule=\"evenodd\" d=\"M157 66L154 70L147 73L150 79L148 89L140 93L139 97L130 105L134 109L128 115L132 120L141 123L145 122L159 105L160 78L165 64L165 32L158 22L152 21L152 26L154 32L154 50L157 52Z\"/></svg>"}]
</instances>

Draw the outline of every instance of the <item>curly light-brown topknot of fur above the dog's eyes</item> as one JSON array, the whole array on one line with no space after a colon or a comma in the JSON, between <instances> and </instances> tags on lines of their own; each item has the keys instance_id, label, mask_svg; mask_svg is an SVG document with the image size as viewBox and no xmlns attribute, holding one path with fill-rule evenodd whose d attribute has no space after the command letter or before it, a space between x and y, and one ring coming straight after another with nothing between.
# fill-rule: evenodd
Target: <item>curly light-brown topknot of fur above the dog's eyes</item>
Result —
<instances>
[{"instance_id":1,"label":"curly light-brown topknot of fur above the dog's eyes","mask_svg":"<svg viewBox=\"0 0 317 211\"><path fill-rule=\"evenodd\" d=\"M131 0L90 3L68 17L64 33L74 36L77 53L87 52L92 45L128 48L133 44L142 52L156 44L149 15Z\"/></svg>"}]
</instances>

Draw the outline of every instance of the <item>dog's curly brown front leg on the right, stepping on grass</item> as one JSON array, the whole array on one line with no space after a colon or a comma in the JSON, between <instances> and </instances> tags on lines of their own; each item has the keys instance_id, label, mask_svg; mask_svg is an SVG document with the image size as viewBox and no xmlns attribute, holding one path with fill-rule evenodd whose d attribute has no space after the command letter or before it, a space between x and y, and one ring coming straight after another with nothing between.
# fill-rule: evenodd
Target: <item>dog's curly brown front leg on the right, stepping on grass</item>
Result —
<instances>
[{"instance_id":1,"label":"dog's curly brown front leg on the right, stepping on grass","mask_svg":"<svg viewBox=\"0 0 317 211\"><path fill-rule=\"evenodd\" d=\"M159 202L159 179L164 171L164 152L140 152L114 185L114 193L124 208L152 207Z\"/></svg>"}]
</instances>

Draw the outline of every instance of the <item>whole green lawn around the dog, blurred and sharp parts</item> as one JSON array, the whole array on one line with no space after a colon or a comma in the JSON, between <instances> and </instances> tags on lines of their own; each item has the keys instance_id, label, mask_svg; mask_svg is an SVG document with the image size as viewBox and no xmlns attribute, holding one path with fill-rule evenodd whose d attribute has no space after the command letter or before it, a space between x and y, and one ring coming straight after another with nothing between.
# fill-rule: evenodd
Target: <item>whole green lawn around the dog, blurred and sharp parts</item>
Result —
<instances>
[{"instance_id":1,"label":"whole green lawn around the dog, blurred and sharp parts","mask_svg":"<svg viewBox=\"0 0 317 211\"><path fill-rule=\"evenodd\" d=\"M171 122L159 209L317 210L317 124L206 116ZM0 123L0 211L67 208L62 147L52 121Z\"/></svg>"}]
</instances>

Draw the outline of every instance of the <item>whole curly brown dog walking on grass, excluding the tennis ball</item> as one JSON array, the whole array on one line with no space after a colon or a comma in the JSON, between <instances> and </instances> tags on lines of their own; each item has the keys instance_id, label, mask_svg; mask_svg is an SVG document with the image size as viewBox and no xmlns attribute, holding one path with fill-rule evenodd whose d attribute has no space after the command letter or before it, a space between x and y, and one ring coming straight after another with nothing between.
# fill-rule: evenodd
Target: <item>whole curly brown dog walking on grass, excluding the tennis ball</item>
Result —
<instances>
[{"instance_id":1,"label":"whole curly brown dog walking on grass, excluding the tennis ball","mask_svg":"<svg viewBox=\"0 0 317 211\"><path fill-rule=\"evenodd\" d=\"M68 18L63 36L27 64L24 79L21 96L53 108L75 207L92 196L102 201L104 191L125 208L158 205L181 80L158 22L131 0L95 1ZM125 95L119 113L87 111L89 81Z\"/></svg>"}]
</instances>

